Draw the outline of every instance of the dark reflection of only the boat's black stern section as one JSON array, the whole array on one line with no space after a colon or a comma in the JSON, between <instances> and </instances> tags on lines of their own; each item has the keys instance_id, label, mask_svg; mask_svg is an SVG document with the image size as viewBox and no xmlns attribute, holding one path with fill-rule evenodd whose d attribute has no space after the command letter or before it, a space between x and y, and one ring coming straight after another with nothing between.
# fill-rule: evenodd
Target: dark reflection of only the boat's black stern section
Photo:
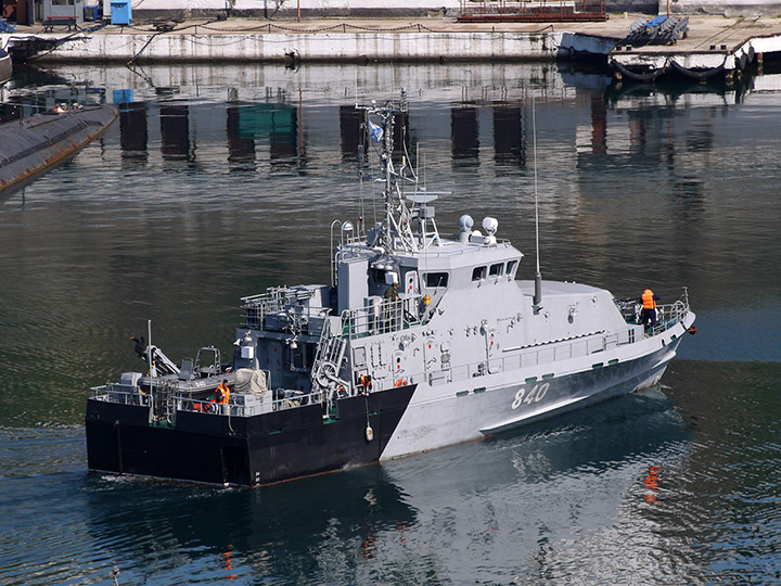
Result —
<instances>
[{"instance_id":1,"label":"dark reflection of only the boat's black stern section","mask_svg":"<svg viewBox=\"0 0 781 586\"><path fill-rule=\"evenodd\" d=\"M201 574L213 561L220 565L235 556L243 572L249 566L283 583L298 582L293 576L308 582L319 572L315 550L370 548L372 535L415 523L406 495L379 466L260 489L99 476L90 476L85 489L92 539L111 544L120 566L149 560L152 574ZM156 560L161 550L176 553Z\"/></svg>"}]
</instances>

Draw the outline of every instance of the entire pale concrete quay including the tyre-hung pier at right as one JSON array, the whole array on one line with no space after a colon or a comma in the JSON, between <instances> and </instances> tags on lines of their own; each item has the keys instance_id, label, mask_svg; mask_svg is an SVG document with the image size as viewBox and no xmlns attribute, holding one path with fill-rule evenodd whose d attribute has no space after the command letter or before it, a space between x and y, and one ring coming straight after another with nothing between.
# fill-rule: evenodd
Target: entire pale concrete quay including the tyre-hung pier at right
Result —
<instances>
[{"instance_id":1,"label":"entire pale concrete quay including the tyre-hung pier at right","mask_svg":"<svg viewBox=\"0 0 781 586\"><path fill-rule=\"evenodd\" d=\"M655 67L683 59L687 67L729 69L746 55L778 51L781 20L690 17L678 44L614 51L640 14L611 15L596 23L457 23L449 17L191 20L171 30L152 24L108 25L94 31L43 33L20 26L0 35L0 46L40 62L149 63L357 63L528 61L598 56L625 67ZM645 16L648 17L648 16ZM746 44L748 43L748 44ZM732 55L732 53L735 53Z\"/></svg>"}]
</instances>

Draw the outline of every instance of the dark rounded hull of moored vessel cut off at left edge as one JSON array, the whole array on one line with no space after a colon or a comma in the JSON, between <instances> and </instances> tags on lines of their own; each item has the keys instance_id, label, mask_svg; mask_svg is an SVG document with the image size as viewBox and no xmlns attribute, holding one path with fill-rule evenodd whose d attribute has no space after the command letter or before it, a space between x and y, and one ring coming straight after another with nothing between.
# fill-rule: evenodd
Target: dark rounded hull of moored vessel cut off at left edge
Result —
<instances>
[{"instance_id":1,"label":"dark rounded hull of moored vessel cut off at left edge","mask_svg":"<svg viewBox=\"0 0 781 586\"><path fill-rule=\"evenodd\" d=\"M111 104L64 106L0 125L0 193L20 187L89 144L117 117Z\"/></svg>"}]
</instances>

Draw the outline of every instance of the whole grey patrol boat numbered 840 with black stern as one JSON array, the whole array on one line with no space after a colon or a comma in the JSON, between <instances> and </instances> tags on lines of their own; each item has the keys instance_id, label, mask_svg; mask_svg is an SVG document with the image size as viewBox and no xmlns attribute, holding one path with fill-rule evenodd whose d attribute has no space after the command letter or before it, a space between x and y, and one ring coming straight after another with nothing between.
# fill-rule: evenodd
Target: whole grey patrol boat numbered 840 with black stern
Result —
<instances>
[{"instance_id":1,"label":"whole grey patrol boat numbered 840 with black stern","mask_svg":"<svg viewBox=\"0 0 781 586\"><path fill-rule=\"evenodd\" d=\"M146 375L92 388L91 470L256 486L478 440L658 382L694 321L686 290L648 330L635 302L603 289L539 270L516 280L523 254L496 219L482 232L464 215L457 237L439 233L439 194L398 140L406 100L362 112L367 141L381 143L383 220L332 224L330 284L244 297L228 364L206 348L209 360L166 359L156 372L150 345Z\"/></svg>"}]
</instances>

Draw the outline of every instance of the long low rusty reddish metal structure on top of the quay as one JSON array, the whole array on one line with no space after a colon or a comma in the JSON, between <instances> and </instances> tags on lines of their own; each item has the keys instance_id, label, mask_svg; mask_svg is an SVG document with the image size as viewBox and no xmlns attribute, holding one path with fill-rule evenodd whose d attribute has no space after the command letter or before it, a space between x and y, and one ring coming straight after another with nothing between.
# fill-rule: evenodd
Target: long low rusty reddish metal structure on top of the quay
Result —
<instances>
[{"instance_id":1,"label":"long low rusty reddish metal structure on top of the quay","mask_svg":"<svg viewBox=\"0 0 781 586\"><path fill-rule=\"evenodd\" d=\"M461 0L460 23L606 21L605 0Z\"/></svg>"}]
</instances>

